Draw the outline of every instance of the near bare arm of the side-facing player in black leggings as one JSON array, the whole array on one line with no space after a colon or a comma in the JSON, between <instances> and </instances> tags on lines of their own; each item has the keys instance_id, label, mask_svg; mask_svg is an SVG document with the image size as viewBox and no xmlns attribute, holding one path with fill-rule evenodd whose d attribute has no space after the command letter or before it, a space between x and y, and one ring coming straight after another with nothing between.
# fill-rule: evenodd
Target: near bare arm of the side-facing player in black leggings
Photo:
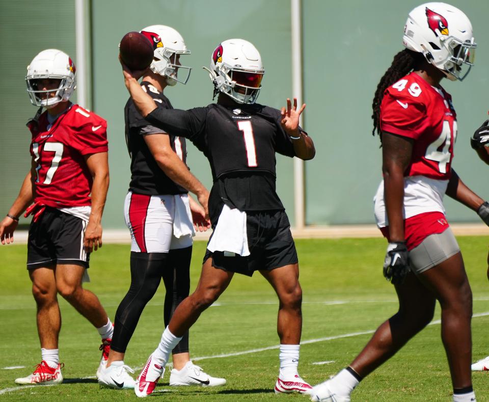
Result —
<instances>
[{"instance_id":1,"label":"near bare arm of the side-facing player in black leggings","mask_svg":"<svg viewBox=\"0 0 489 402\"><path fill-rule=\"evenodd\" d=\"M152 134L145 136L144 140L159 168L175 183L194 193L204 207L205 216L208 216L207 202L209 192L173 151L168 134Z\"/></svg>"}]
</instances>

